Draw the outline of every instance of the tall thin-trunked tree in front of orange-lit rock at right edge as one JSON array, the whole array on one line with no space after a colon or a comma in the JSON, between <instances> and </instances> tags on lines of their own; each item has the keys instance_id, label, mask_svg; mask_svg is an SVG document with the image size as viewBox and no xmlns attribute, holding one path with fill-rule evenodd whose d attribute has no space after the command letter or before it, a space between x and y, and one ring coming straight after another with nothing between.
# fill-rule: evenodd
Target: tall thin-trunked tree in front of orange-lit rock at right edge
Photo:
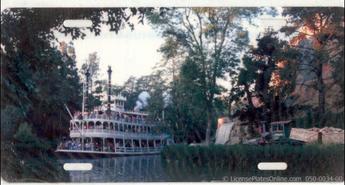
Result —
<instances>
[{"instance_id":1,"label":"tall thin-trunked tree in front of orange-lit rock at right edge","mask_svg":"<svg viewBox=\"0 0 345 185\"><path fill-rule=\"evenodd\" d=\"M301 84L318 92L319 119L326 113L326 84L324 68L331 64L334 72L344 66L344 12L343 8L285 8L283 15L288 18L289 25L281 29L292 35L291 44L300 50L304 58L300 61L300 71L309 72L314 81ZM344 93L343 71L334 73L335 83L339 84ZM341 93L341 94L343 94ZM343 102L343 96L341 98ZM343 105L342 105L343 106Z\"/></svg>"}]
</instances>

